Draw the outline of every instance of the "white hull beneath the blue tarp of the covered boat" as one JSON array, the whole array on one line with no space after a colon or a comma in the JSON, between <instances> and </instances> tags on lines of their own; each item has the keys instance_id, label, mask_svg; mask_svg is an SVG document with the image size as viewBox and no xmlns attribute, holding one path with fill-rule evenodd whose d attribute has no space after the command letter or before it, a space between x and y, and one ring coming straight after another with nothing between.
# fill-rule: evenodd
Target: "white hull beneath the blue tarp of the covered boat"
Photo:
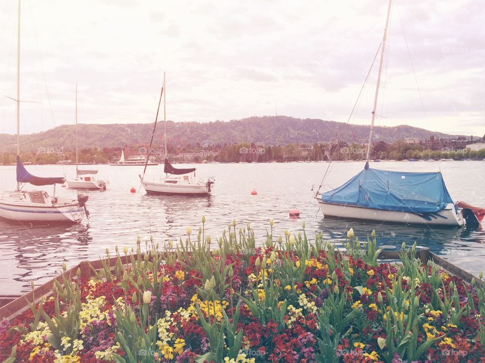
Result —
<instances>
[{"instance_id":1,"label":"white hull beneath the blue tarp of the covered boat","mask_svg":"<svg viewBox=\"0 0 485 363\"><path fill-rule=\"evenodd\" d=\"M323 215L328 217L451 227L459 227L465 224L461 210L456 212L454 204L448 204L440 212L417 214L377 210L349 204L328 203L324 202L320 196L316 196L315 199L317 199Z\"/></svg>"}]
</instances>

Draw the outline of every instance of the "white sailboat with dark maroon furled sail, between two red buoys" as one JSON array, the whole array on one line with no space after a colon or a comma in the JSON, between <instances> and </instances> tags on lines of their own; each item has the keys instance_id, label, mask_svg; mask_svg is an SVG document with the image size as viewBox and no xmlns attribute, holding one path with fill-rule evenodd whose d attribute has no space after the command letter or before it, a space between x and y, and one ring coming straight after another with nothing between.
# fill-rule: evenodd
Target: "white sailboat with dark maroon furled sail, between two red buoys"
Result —
<instances>
[{"instance_id":1,"label":"white sailboat with dark maroon furled sail, between two red buoys","mask_svg":"<svg viewBox=\"0 0 485 363\"><path fill-rule=\"evenodd\" d=\"M139 175L141 185L147 193L152 194L165 194L165 195L186 195L186 196L206 196L212 192L212 185L214 184L214 178L194 180L196 175L196 168L179 169L173 167L167 159L167 117L166 117L166 86L165 86L165 72L163 74L163 87L160 93L160 100L158 102L157 116L155 117L155 124L152 132L152 139L150 141L151 149L153 137L155 135L155 129L157 127L158 113L160 110L160 102L163 94L163 120L164 120L164 150L165 150L165 162L164 173L165 178L160 178L160 181L147 181L144 179L145 171L150 157L150 152L147 153L146 165L143 170L143 174ZM169 176L170 175L170 176Z\"/></svg>"}]
</instances>

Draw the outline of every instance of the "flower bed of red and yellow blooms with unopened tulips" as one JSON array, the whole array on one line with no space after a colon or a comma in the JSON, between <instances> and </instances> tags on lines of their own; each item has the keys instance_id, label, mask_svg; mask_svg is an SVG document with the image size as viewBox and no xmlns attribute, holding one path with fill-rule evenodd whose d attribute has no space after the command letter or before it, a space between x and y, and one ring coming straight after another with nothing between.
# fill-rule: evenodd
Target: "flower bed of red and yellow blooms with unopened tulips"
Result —
<instances>
[{"instance_id":1,"label":"flower bed of red and yellow blooms with unopened tulips","mask_svg":"<svg viewBox=\"0 0 485 363\"><path fill-rule=\"evenodd\" d=\"M211 242L204 222L175 247L116 249L113 268L107 251L89 280L64 273L0 326L0 361L485 362L484 290L420 266L414 246L378 264L375 239L352 233L344 254L273 239L272 222L263 247L235 222Z\"/></svg>"}]
</instances>

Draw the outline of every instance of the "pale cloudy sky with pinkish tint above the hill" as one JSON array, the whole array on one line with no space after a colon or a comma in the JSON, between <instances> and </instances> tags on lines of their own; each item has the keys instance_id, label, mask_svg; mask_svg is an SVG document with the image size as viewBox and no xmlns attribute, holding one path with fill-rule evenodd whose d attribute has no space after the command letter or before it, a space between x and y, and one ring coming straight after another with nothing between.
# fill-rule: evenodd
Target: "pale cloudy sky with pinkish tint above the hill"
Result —
<instances>
[{"instance_id":1,"label":"pale cloudy sky with pinkish tint above the hill","mask_svg":"<svg viewBox=\"0 0 485 363\"><path fill-rule=\"evenodd\" d=\"M16 133L17 1L0 2L0 133ZM75 120L285 115L370 124L384 0L23 0L21 133ZM485 134L485 7L396 0L376 125ZM29 102L26 102L29 101ZM163 120L163 113L159 119Z\"/></svg>"}]
</instances>

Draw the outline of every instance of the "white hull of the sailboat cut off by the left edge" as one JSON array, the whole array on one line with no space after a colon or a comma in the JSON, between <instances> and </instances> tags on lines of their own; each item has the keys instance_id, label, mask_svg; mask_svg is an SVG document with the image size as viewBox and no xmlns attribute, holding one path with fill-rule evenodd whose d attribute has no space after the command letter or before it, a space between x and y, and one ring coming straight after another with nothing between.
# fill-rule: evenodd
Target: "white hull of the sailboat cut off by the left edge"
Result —
<instances>
[{"instance_id":1,"label":"white hull of the sailboat cut off by the left edge","mask_svg":"<svg viewBox=\"0 0 485 363\"><path fill-rule=\"evenodd\" d=\"M57 198L57 203L34 203L18 197L12 192L0 198L0 218L14 222L59 222L79 223L84 211L75 200Z\"/></svg>"}]
</instances>

